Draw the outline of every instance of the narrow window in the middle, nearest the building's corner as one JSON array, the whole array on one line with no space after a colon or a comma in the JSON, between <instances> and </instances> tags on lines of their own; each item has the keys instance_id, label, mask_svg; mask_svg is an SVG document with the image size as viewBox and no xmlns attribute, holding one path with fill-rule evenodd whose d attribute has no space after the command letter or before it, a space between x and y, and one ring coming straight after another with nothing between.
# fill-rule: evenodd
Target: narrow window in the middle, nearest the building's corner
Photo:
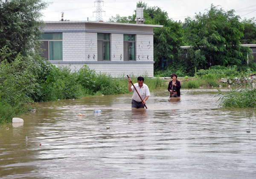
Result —
<instances>
[{"instance_id":1,"label":"narrow window in the middle, nearest the building's corner","mask_svg":"<svg viewBox=\"0 0 256 179\"><path fill-rule=\"evenodd\" d=\"M98 61L110 60L110 35L98 33Z\"/></svg>"}]
</instances>

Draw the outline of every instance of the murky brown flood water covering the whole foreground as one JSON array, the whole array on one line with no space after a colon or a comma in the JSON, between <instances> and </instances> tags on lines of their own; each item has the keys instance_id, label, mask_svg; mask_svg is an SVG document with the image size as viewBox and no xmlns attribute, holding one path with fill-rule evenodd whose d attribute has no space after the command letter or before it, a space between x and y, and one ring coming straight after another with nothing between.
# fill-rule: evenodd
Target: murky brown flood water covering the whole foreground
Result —
<instances>
[{"instance_id":1,"label":"murky brown flood water covering the whole foreground","mask_svg":"<svg viewBox=\"0 0 256 179\"><path fill-rule=\"evenodd\" d=\"M255 110L219 108L217 93L151 92L147 110L131 93L40 103L0 128L0 178L255 179Z\"/></svg>"}]
</instances>

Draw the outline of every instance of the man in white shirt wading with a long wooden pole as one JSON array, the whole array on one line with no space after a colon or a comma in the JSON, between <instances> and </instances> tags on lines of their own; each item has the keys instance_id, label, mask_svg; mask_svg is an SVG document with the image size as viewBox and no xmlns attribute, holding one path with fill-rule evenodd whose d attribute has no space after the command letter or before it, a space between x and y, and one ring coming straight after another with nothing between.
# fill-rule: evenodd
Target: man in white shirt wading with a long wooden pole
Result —
<instances>
[{"instance_id":1,"label":"man in white shirt wading with a long wooden pole","mask_svg":"<svg viewBox=\"0 0 256 179\"><path fill-rule=\"evenodd\" d=\"M134 93L132 95L131 107L132 108L144 108L144 105L148 99L148 96L150 96L150 92L149 92L148 86L146 84L143 84L143 82L144 82L143 77L140 76L137 78L137 80L138 80L138 83L134 84L134 87L136 87L136 89L139 92L143 101L141 101L136 90L134 90L134 87L133 86L131 87L131 78L129 78L128 79L128 81L129 81L128 90L129 90L129 92L134 91Z\"/></svg>"}]
</instances>

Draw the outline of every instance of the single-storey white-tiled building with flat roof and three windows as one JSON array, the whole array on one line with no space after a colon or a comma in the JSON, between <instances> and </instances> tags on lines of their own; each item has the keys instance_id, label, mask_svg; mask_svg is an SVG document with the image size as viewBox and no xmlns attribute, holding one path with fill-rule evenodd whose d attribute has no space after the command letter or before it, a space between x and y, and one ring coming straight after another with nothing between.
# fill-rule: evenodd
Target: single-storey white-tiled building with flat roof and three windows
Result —
<instances>
[{"instance_id":1,"label":"single-storey white-tiled building with flat roof and three windows","mask_svg":"<svg viewBox=\"0 0 256 179\"><path fill-rule=\"evenodd\" d=\"M112 77L154 75L153 28L162 25L48 21L42 56L72 70L87 65ZM106 39L105 39L106 38ZM125 39L127 41L125 41Z\"/></svg>"}]
</instances>

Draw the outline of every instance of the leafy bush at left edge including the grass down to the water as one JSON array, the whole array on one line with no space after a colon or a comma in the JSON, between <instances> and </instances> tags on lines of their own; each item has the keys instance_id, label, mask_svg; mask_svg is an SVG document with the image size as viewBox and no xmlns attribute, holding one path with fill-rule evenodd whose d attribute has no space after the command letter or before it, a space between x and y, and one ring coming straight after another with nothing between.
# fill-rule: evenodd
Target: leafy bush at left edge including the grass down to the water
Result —
<instances>
[{"instance_id":1,"label":"leafy bush at left edge including the grass down to the water","mask_svg":"<svg viewBox=\"0 0 256 179\"><path fill-rule=\"evenodd\" d=\"M36 89L35 63L21 55L8 63L0 61L0 125L11 122L15 115L24 113L33 102L30 96Z\"/></svg>"}]
</instances>

